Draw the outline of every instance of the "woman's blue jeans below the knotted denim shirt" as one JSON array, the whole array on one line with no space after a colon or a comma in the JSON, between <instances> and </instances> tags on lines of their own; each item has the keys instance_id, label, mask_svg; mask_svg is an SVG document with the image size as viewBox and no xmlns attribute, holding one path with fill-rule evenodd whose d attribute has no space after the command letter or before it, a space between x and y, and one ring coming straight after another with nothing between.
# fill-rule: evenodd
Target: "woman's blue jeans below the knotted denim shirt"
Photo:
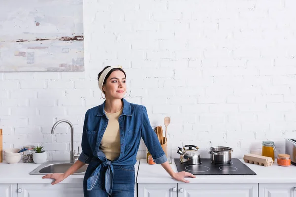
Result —
<instances>
[{"instance_id":1,"label":"woman's blue jeans below the knotted denim shirt","mask_svg":"<svg viewBox=\"0 0 296 197\"><path fill-rule=\"evenodd\" d=\"M111 197L134 197L135 167L132 165L113 165L114 178ZM107 167L101 168L100 177L91 191L86 190L86 180L83 183L84 197L109 197L105 190L105 172Z\"/></svg>"}]
</instances>

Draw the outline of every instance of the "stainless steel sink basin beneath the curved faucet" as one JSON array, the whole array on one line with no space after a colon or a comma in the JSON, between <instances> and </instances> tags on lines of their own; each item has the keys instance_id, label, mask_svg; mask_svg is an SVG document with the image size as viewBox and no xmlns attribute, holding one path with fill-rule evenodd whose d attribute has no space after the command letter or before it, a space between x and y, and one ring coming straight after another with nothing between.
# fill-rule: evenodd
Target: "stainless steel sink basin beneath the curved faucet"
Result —
<instances>
[{"instance_id":1,"label":"stainless steel sink basin beneath the curved faucet","mask_svg":"<svg viewBox=\"0 0 296 197\"><path fill-rule=\"evenodd\" d=\"M40 166L38 166L36 169L34 169L29 174L51 174L51 173L64 173L66 172L73 163L70 163L69 161L47 161ZM74 174L85 174L85 171L88 167L88 164L85 164L83 167L78 169Z\"/></svg>"}]
</instances>

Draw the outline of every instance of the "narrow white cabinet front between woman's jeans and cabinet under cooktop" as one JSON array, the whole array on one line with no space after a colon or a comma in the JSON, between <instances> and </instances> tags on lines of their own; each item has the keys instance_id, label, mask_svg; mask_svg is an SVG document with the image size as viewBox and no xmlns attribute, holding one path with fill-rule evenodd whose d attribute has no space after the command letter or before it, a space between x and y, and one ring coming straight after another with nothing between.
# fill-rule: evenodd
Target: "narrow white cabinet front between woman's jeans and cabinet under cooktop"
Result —
<instances>
[{"instance_id":1,"label":"narrow white cabinet front between woman's jeans and cabinet under cooktop","mask_svg":"<svg viewBox=\"0 0 296 197\"><path fill-rule=\"evenodd\" d=\"M177 197L177 183L138 183L138 197Z\"/></svg>"}]
</instances>

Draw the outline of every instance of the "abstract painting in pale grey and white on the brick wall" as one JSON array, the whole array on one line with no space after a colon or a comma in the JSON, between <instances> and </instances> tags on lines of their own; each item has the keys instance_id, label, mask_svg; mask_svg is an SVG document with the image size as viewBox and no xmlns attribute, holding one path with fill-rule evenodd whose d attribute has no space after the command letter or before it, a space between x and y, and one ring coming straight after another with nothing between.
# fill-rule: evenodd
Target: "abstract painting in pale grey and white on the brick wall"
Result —
<instances>
[{"instance_id":1,"label":"abstract painting in pale grey and white on the brick wall","mask_svg":"<svg viewBox=\"0 0 296 197\"><path fill-rule=\"evenodd\" d=\"M83 0L0 0L0 72L84 71Z\"/></svg>"}]
</instances>

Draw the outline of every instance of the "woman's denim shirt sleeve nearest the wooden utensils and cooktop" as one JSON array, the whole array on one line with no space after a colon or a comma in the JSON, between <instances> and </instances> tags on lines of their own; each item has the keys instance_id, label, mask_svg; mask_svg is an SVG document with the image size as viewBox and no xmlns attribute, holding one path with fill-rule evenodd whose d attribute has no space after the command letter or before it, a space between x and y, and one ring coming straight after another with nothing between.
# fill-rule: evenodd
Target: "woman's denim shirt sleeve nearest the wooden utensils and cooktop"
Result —
<instances>
[{"instance_id":1,"label":"woman's denim shirt sleeve nearest the wooden utensils and cooktop","mask_svg":"<svg viewBox=\"0 0 296 197\"><path fill-rule=\"evenodd\" d=\"M157 164L162 164L167 161L167 157L161 148L160 142L157 138L156 133L151 127L150 120L148 118L146 107L143 106L142 109L142 128L141 128L141 137L151 153L154 162Z\"/></svg>"}]
</instances>

